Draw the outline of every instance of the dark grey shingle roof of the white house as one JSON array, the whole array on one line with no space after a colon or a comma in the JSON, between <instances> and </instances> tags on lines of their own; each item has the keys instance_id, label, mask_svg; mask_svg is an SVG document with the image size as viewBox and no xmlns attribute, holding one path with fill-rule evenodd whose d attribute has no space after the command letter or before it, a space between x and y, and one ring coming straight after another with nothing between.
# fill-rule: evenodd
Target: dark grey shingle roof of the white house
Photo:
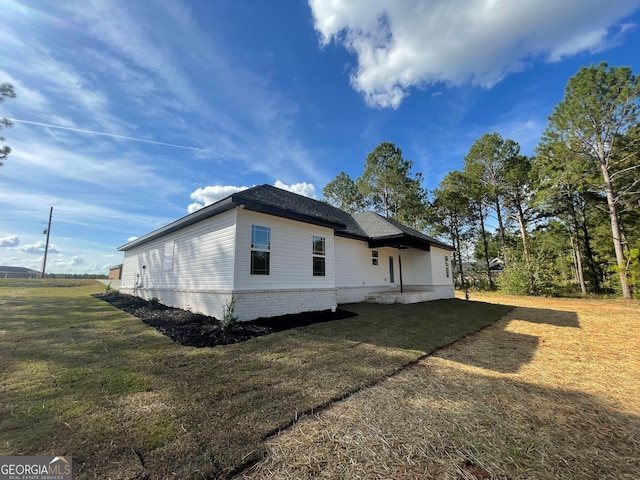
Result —
<instances>
[{"instance_id":1,"label":"dark grey shingle roof of the white house","mask_svg":"<svg viewBox=\"0 0 640 480\"><path fill-rule=\"evenodd\" d=\"M282 190L271 185L259 185L229 195L197 212L182 217L158 230L133 240L118 248L118 250L128 250L134 246L141 245L193 223L240 206L247 210L333 228L335 234L338 236L368 241L370 246L372 242L376 242L376 246L383 246L388 243L388 245L410 245L428 250L431 245L434 245L452 250L451 247L434 238L394 220L384 218L377 213L363 212L350 215L328 203ZM391 242L391 240L393 240L393 242Z\"/></svg>"}]
</instances>

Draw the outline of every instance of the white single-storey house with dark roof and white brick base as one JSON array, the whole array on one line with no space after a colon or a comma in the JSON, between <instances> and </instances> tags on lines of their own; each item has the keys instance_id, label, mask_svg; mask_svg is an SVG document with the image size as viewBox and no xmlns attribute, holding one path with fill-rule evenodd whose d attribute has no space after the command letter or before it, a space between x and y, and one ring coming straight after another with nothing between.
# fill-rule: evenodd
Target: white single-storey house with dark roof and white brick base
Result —
<instances>
[{"instance_id":1,"label":"white single-storey house with dark roof and white brick base","mask_svg":"<svg viewBox=\"0 0 640 480\"><path fill-rule=\"evenodd\" d=\"M261 185L119 247L120 291L239 320L454 296L453 249L374 212Z\"/></svg>"}]
</instances>

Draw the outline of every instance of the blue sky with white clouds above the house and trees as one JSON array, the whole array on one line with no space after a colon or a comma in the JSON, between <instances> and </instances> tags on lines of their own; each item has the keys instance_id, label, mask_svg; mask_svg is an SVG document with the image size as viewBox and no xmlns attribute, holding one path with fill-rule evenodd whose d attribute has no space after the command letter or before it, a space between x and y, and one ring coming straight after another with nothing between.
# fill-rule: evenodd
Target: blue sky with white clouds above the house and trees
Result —
<instances>
[{"instance_id":1,"label":"blue sky with white clouds above the house and trees","mask_svg":"<svg viewBox=\"0 0 640 480\"><path fill-rule=\"evenodd\" d=\"M106 273L243 187L314 198L394 142L424 186L533 153L580 66L640 73L640 0L0 0L0 265Z\"/></svg>"}]
</instances>

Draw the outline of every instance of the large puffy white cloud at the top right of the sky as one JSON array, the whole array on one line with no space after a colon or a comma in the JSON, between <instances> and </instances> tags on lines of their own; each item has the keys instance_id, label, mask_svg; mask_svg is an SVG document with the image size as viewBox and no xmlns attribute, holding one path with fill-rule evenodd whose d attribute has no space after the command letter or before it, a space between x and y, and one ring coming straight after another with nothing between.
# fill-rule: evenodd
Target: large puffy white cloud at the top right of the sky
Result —
<instances>
[{"instance_id":1,"label":"large puffy white cloud at the top right of the sky","mask_svg":"<svg viewBox=\"0 0 640 480\"><path fill-rule=\"evenodd\" d=\"M323 45L343 44L351 84L369 105L397 108L411 87L444 82L490 88L537 58L598 52L638 0L309 0Z\"/></svg>"}]
</instances>

